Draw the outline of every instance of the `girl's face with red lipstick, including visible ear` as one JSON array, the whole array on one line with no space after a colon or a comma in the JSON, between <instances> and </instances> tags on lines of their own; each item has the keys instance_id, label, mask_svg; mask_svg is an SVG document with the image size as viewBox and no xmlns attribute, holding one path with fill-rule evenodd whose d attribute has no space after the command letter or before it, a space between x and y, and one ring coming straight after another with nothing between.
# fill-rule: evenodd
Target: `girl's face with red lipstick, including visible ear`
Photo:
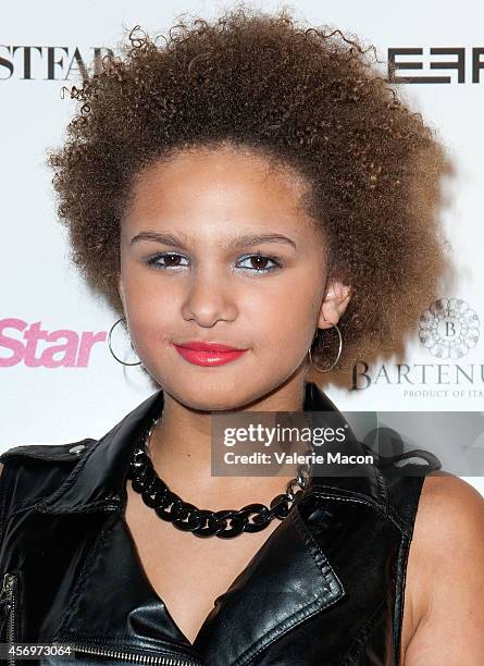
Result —
<instances>
[{"instance_id":1,"label":"girl's face with red lipstick, including visible ear","mask_svg":"<svg viewBox=\"0 0 484 666\"><path fill-rule=\"evenodd\" d=\"M178 152L138 177L120 296L144 366L191 408L232 409L299 383L317 326L346 307L340 285L323 301L324 242L303 192L295 173L232 147ZM214 363L182 347L197 341L245 351Z\"/></svg>"}]
</instances>

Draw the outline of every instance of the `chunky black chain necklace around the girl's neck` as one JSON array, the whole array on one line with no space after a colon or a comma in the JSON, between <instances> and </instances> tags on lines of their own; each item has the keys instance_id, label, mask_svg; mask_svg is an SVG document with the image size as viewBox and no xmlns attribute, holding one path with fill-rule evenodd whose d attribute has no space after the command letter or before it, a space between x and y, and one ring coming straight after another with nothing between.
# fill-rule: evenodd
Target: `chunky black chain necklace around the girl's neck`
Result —
<instances>
[{"instance_id":1,"label":"chunky black chain necklace around the girl's neck","mask_svg":"<svg viewBox=\"0 0 484 666\"><path fill-rule=\"evenodd\" d=\"M284 520L296 497L307 486L309 467L302 464L298 467L296 478L287 483L285 493L272 499L270 508L264 504L256 503L248 504L238 510L199 509L173 493L153 468L148 446L157 422L158 419L152 422L148 433L141 439L141 443L135 446L129 462L128 479L132 480L133 490L141 495L147 506L153 508L162 520L171 522L184 532L191 532L196 536L219 536L220 539L232 539L241 532L259 532L266 528L273 518ZM297 493L294 491L296 485L301 489Z\"/></svg>"}]
</instances>

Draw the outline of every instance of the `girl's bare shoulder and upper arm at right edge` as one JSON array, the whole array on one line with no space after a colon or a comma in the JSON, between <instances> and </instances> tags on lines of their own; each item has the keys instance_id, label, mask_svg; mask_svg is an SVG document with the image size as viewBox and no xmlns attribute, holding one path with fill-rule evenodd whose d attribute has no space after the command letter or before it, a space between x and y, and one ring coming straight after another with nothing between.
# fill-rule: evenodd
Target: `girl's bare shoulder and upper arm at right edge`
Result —
<instances>
[{"instance_id":1,"label":"girl's bare shoulder and upper arm at right edge","mask_svg":"<svg viewBox=\"0 0 484 666\"><path fill-rule=\"evenodd\" d=\"M484 589L484 497L470 483L442 471L425 477L407 574L411 631L402 664L484 664L484 597L476 593Z\"/></svg>"}]
</instances>

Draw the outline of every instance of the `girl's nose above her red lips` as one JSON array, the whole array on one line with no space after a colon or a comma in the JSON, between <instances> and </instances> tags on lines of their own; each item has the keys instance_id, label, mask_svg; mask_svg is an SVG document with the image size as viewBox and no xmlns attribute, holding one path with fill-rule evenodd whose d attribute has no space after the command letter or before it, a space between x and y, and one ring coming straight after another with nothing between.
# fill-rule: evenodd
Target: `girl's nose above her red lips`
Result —
<instances>
[{"instance_id":1,"label":"girl's nose above her red lips","mask_svg":"<svg viewBox=\"0 0 484 666\"><path fill-rule=\"evenodd\" d=\"M237 306L227 275L210 269L198 271L187 286L182 313L186 321L194 319L207 328L220 320L233 321L237 317Z\"/></svg>"}]
</instances>

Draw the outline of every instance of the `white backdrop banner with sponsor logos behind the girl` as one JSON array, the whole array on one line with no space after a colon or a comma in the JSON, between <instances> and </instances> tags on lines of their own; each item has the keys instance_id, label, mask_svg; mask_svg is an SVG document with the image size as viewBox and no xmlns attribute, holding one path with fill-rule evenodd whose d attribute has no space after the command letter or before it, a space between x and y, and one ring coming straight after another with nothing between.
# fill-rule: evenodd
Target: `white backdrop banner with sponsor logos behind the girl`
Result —
<instances>
[{"instance_id":1,"label":"white backdrop banner with sponsor logos behind the girl","mask_svg":"<svg viewBox=\"0 0 484 666\"><path fill-rule=\"evenodd\" d=\"M108 333L117 317L69 260L46 165L47 151L62 143L74 111L63 86L80 82L87 67L117 52L136 25L157 35L183 12L211 18L229 7L84 0L73 13L45 0L0 10L0 451L99 437L154 390L137 367L123 367L111 356ZM433 126L455 168L442 219L456 272L422 312L405 360L361 361L343 385L321 385L342 410L425 412L429 431L432 412L469 412L469 421L458 422L472 428L462 433L456 427L452 437L479 453L484 449L484 8L472 0L451 10L437 0L392 5L297 0L291 8L302 22L374 45L382 75ZM116 344L129 343L119 336ZM474 468L463 465L458 473L484 493L484 470L481 458L475 460Z\"/></svg>"}]
</instances>

